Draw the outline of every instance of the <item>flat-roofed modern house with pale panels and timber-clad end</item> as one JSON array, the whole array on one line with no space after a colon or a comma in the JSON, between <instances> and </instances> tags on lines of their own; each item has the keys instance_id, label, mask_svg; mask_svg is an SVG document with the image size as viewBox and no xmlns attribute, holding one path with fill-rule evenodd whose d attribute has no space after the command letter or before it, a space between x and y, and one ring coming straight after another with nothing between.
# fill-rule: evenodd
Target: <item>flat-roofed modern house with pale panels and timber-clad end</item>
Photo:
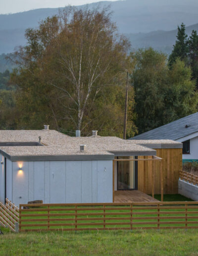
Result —
<instances>
[{"instance_id":1,"label":"flat-roofed modern house with pale panels and timber-clad end","mask_svg":"<svg viewBox=\"0 0 198 256\"><path fill-rule=\"evenodd\" d=\"M101 137L97 131L90 137L79 133L70 137L49 126L0 130L0 201L113 202L117 191L178 191L182 143L153 140L140 145Z\"/></svg>"}]
</instances>

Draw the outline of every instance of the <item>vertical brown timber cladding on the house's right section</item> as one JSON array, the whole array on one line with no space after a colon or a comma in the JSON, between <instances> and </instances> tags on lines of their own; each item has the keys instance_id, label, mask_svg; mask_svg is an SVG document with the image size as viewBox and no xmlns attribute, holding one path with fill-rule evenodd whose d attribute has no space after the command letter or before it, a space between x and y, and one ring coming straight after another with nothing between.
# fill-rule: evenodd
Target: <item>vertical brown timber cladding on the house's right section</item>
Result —
<instances>
[{"instance_id":1,"label":"vertical brown timber cladding on the house's right section","mask_svg":"<svg viewBox=\"0 0 198 256\"><path fill-rule=\"evenodd\" d=\"M182 170L182 149L166 148L155 149L156 156L162 158L163 193L178 193L179 171ZM148 159L151 156L139 156ZM152 194L152 171L154 177L154 193L161 193L160 162L140 161L138 162L138 190Z\"/></svg>"}]
</instances>

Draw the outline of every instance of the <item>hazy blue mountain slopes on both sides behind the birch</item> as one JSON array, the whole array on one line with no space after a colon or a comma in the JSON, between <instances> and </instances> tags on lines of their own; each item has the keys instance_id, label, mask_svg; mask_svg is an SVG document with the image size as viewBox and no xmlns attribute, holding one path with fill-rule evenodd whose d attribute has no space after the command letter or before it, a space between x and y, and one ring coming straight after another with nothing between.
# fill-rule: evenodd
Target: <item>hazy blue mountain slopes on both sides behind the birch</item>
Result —
<instances>
[{"instance_id":1,"label":"hazy blue mountain slopes on both sides behind the birch","mask_svg":"<svg viewBox=\"0 0 198 256\"><path fill-rule=\"evenodd\" d=\"M119 31L130 38L134 49L152 46L170 53L177 25L198 23L198 0L101 1L88 4L88 7L93 5L111 6L112 20ZM58 8L42 8L0 14L0 54L11 53L16 46L24 45L26 28L35 28L39 21L57 13Z\"/></svg>"}]
</instances>

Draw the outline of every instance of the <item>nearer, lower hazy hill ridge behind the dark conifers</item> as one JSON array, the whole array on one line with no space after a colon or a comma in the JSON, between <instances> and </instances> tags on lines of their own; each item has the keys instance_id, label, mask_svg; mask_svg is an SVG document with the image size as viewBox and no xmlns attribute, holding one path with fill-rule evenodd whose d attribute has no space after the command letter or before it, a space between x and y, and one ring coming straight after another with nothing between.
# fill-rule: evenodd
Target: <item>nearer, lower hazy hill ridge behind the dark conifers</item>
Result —
<instances>
[{"instance_id":1,"label":"nearer, lower hazy hill ridge behind the dark conifers","mask_svg":"<svg viewBox=\"0 0 198 256\"><path fill-rule=\"evenodd\" d=\"M186 27L186 33L198 31L198 23ZM125 34L131 41L133 49L152 47L155 50L170 54L176 41L177 29L171 31L153 31L149 33Z\"/></svg>"}]
</instances>

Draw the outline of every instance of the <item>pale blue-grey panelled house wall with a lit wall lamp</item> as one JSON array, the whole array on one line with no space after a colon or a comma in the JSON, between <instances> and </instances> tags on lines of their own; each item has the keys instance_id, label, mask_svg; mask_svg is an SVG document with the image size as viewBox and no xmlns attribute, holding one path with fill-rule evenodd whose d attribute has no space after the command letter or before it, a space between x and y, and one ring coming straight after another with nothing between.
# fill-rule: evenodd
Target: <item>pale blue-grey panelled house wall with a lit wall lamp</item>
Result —
<instances>
[{"instance_id":1,"label":"pale blue-grey panelled house wall with a lit wall lamp","mask_svg":"<svg viewBox=\"0 0 198 256\"><path fill-rule=\"evenodd\" d=\"M22 172L19 165L22 164ZM12 201L112 202L112 161L12 162Z\"/></svg>"}]
</instances>

